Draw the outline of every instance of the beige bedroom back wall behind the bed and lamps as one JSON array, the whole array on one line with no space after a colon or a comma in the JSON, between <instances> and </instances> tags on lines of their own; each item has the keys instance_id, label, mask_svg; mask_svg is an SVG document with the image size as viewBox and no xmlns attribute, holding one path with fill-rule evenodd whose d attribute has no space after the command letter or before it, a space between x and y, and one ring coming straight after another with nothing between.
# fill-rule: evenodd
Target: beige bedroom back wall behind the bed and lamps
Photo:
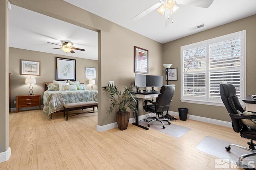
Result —
<instances>
[{"instance_id":1,"label":"beige bedroom back wall behind the bed and lamps","mask_svg":"<svg viewBox=\"0 0 256 170\"><path fill-rule=\"evenodd\" d=\"M41 104L43 104L44 87L43 82L52 82L55 80L56 59L55 57L61 57L66 59L76 60L76 80L86 84L86 89L91 89L89 79L85 78L85 67L96 67L96 74L98 73L98 61L88 60L77 57L69 57L64 55L55 55L51 53L42 53L38 51L30 51L17 48L9 48L9 72L11 73L11 107L16 107L13 103L16 100L17 95L29 94L29 84L25 84L25 78L36 78L36 84L33 86L33 94L40 94ZM20 75L20 60L40 61L41 72L40 76ZM94 84L94 90L98 90L98 81L96 75L96 84Z\"/></svg>"}]
</instances>

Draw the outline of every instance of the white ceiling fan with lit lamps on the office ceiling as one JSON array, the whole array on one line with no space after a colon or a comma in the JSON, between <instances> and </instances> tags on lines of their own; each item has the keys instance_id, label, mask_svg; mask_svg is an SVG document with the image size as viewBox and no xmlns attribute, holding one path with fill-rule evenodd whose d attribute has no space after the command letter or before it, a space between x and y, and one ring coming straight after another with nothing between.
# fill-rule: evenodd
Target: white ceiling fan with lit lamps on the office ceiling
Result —
<instances>
[{"instance_id":1,"label":"white ceiling fan with lit lamps on the office ceiling","mask_svg":"<svg viewBox=\"0 0 256 170\"><path fill-rule=\"evenodd\" d=\"M156 8L158 8L157 11L160 14L165 16L165 27L167 27L171 23L173 23L172 14L179 9L178 6L189 5L189 6L208 8L212 4L212 2L213 0L160 0L160 2L144 10L143 12L141 12L140 14L138 14L132 19L137 21L140 18L149 14L150 12L154 11Z\"/></svg>"}]
</instances>

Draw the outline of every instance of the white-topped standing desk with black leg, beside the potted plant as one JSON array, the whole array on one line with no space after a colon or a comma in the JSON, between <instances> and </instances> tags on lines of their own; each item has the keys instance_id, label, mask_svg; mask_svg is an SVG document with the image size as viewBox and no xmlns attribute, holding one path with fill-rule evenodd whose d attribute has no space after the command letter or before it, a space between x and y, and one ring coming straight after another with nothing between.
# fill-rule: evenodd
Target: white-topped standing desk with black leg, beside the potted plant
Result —
<instances>
[{"instance_id":1,"label":"white-topped standing desk with black leg, beside the potted plant","mask_svg":"<svg viewBox=\"0 0 256 170\"><path fill-rule=\"evenodd\" d=\"M147 92L147 93L136 93L137 94L137 98L136 98L136 114L135 114L135 123L132 123L133 125L135 126L138 126L138 127L141 127L143 129L146 129L148 130L149 128L148 127L144 127L142 125L139 125L139 99L149 99L149 98L157 98L158 95L160 93L150 93L150 92Z\"/></svg>"}]
</instances>

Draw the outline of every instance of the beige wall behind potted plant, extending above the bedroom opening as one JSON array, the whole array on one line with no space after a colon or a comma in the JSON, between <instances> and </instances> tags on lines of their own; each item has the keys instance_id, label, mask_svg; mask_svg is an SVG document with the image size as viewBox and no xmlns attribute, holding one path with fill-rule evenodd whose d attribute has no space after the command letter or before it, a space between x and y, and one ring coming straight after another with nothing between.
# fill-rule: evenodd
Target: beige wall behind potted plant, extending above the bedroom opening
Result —
<instances>
[{"instance_id":1,"label":"beige wall behind potted plant, extending above the bedroom opening","mask_svg":"<svg viewBox=\"0 0 256 170\"><path fill-rule=\"evenodd\" d=\"M116 122L106 113L109 102L100 87L109 80L123 90L134 81L134 46L149 51L149 74L162 74L162 44L100 18L72 4L48 0L10 0L14 5L98 31L98 125ZM75 11L75 12L74 12ZM130 117L133 117L131 114Z\"/></svg>"}]
</instances>

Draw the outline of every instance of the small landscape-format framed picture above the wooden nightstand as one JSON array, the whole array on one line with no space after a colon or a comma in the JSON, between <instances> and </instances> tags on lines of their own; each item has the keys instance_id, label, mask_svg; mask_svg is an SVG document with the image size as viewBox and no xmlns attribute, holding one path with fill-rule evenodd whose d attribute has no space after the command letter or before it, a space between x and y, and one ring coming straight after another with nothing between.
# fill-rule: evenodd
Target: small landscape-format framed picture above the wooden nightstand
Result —
<instances>
[{"instance_id":1,"label":"small landscape-format framed picture above the wooden nightstand","mask_svg":"<svg viewBox=\"0 0 256 170\"><path fill-rule=\"evenodd\" d=\"M20 60L20 75L40 76L40 61Z\"/></svg>"}]
</instances>

